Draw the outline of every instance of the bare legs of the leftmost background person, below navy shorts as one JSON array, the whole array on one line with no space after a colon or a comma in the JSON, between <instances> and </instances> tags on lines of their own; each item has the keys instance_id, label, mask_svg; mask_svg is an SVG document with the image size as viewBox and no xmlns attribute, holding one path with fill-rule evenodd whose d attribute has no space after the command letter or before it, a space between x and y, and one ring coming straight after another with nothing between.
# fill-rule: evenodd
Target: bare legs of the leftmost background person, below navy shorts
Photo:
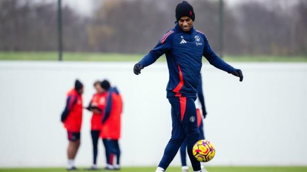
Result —
<instances>
[{"instance_id":1,"label":"bare legs of the leftmost background person, below navy shorts","mask_svg":"<svg viewBox=\"0 0 307 172\"><path fill-rule=\"evenodd\" d=\"M68 157L68 170L74 170L75 167L75 157L77 155L79 146L80 146L80 133L70 132L68 131L68 149L67 149L67 157Z\"/></svg>"}]
</instances>

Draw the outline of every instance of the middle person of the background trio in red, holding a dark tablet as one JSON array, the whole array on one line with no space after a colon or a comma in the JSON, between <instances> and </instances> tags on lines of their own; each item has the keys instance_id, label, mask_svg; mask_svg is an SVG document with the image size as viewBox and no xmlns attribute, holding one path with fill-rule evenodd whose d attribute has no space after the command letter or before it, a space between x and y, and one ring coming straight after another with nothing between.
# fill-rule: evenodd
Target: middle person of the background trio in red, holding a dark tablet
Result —
<instances>
[{"instance_id":1,"label":"middle person of the background trio in red, holding a dark tablet","mask_svg":"<svg viewBox=\"0 0 307 172\"><path fill-rule=\"evenodd\" d=\"M97 155L98 155L98 139L101 129L101 112L105 105L105 90L100 86L100 81L94 83L96 93L93 95L87 110L93 112L91 119L91 136L93 141L93 165L88 168L89 170L97 170Z\"/></svg>"}]
</instances>

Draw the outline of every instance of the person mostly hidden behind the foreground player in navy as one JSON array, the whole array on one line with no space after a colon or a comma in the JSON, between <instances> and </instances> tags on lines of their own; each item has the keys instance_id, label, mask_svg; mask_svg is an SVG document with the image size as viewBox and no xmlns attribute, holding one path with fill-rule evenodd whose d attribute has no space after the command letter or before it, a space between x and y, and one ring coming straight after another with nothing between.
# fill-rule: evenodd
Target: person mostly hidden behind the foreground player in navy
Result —
<instances>
[{"instance_id":1,"label":"person mostly hidden behind the foreground player in navy","mask_svg":"<svg viewBox=\"0 0 307 172\"><path fill-rule=\"evenodd\" d=\"M200 131L199 140L205 139L204 126L203 126L203 118L206 118L207 111L205 106L205 98L203 93L203 83L202 83L202 75L200 76L199 87L197 91L197 98L195 100L196 114L197 114L197 126ZM180 146L180 156L181 156L181 165L182 172L189 172L189 167L187 166L186 161L186 151L187 151L187 138L182 142ZM201 163L202 172L207 172L205 169L204 163Z\"/></svg>"}]
</instances>

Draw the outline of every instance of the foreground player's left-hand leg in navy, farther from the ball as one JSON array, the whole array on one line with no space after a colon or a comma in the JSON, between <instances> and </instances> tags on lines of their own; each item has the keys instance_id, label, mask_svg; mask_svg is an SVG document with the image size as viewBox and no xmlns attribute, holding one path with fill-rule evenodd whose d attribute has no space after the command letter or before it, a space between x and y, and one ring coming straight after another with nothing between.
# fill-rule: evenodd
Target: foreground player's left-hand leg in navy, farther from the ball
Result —
<instances>
[{"instance_id":1,"label":"foreground player's left-hand leg in navy, farther from the ball","mask_svg":"<svg viewBox=\"0 0 307 172\"><path fill-rule=\"evenodd\" d=\"M183 140L185 139L185 133L181 126L181 110L179 97L171 97L168 99L171 104L171 119L172 119L172 131L171 138L168 141L162 160L159 163L159 167L156 171L164 171L176 156Z\"/></svg>"}]
</instances>

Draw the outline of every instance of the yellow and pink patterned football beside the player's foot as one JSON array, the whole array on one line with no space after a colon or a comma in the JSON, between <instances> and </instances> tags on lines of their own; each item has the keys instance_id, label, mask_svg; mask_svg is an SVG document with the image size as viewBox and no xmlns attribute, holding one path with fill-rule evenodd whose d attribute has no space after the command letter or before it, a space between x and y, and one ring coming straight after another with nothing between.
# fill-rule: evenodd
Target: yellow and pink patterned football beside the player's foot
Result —
<instances>
[{"instance_id":1,"label":"yellow and pink patterned football beside the player's foot","mask_svg":"<svg viewBox=\"0 0 307 172\"><path fill-rule=\"evenodd\" d=\"M215 155L215 147L208 140L199 140L193 146L193 155L200 162L208 162Z\"/></svg>"}]
</instances>

